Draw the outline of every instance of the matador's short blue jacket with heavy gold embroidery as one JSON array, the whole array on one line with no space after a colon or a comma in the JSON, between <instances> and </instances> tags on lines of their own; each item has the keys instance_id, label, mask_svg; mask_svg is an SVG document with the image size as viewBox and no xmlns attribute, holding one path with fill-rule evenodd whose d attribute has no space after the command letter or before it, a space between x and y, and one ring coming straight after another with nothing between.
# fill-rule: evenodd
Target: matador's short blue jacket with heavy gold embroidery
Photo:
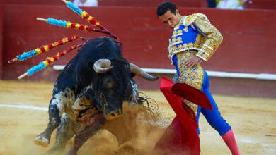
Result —
<instances>
[{"instance_id":1,"label":"matador's short blue jacket with heavy gold embroidery","mask_svg":"<svg viewBox=\"0 0 276 155\"><path fill-rule=\"evenodd\" d=\"M211 25L207 17L202 13L194 13L183 16L169 40L168 57L173 62L173 56L177 53L195 50L196 56L203 61L208 61L214 54L219 44L222 43L222 34Z\"/></svg>"}]
</instances>

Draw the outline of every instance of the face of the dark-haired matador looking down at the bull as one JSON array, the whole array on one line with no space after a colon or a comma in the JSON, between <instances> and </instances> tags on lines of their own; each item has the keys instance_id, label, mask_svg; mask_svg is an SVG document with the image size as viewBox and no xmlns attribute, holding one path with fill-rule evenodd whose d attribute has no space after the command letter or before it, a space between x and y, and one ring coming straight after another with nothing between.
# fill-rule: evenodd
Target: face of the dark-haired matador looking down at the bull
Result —
<instances>
[{"instance_id":1,"label":"face of the dark-haired matador looking down at the bull","mask_svg":"<svg viewBox=\"0 0 276 155\"><path fill-rule=\"evenodd\" d=\"M178 9L176 9L176 14L171 13L171 11L167 11L162 16L159 16L159 20L172 29L178 25L181 18L182 16L180 15Z\"/></svg>"}]
</instances>

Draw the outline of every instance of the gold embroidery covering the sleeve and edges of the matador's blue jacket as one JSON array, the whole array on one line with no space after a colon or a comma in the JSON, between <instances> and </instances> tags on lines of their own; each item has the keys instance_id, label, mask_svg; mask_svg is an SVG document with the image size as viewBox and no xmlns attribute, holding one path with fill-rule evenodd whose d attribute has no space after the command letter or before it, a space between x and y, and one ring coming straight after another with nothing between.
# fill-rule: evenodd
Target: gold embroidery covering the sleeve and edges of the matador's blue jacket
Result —
<instances>
[{"instance_id":1,"label":"gold embroidery covering the sleeve and edges of the matador's blue jacket","mask_svg":"<svg viewBox=\"0 0 276 155\"><path fill-rule=\"evenodd\" d=\"M204 61L208 61L212 54L214 54L214 51L216 51L219 44L222 43L222 34L213 25L211 25L211 23L209 23L207 17L202 13L194 13L190 16L183 16L179 24L176 25L173 34L178 33L180 25L188 27L192 23L196 26L196 29L199 32L195 39L195 43L176 46L176 44L180 44L180 42L182 42L182 39L180 42L177 42L177 40L173 38L173 41L170 43L170 58L173 58L173 55L179 52L193 49L198 51L197 56L202 58Z\"/></svg>"}]
</instances>

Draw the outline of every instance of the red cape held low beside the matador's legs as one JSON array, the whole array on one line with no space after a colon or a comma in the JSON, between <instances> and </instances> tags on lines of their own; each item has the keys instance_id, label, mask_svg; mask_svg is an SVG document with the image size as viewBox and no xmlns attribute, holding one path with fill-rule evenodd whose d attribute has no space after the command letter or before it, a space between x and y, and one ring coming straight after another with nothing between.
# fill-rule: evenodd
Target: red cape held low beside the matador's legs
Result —
<instances>
[{"instance_id":1,"label":"red cape held low beside the matador's legs","mask_svg":"<svg viewBox=\"0 0 276 155\"><path fill-rule=\"evenodd\" d=\"M213 109L206 94L184 83L174 84L165 77L161 79L160 90L176 113L176 118L156 143L154 154L200 154L196 116L187 104L183 104L181 97L205 109Z\"/></svg>"}]
</instances>

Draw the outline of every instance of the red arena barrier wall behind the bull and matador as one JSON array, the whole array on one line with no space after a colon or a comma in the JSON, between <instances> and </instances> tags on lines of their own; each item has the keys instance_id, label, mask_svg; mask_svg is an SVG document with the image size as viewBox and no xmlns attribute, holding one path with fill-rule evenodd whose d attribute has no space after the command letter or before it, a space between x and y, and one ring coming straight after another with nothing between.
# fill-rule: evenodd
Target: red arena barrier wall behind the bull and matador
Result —
<instances>
[{"instance_id":1,"label":"red arena barrier wall behind the bull and matador","mask_svg":"<svg viewBox=\"0 0 276 155\"><path fill-rule=\"evenodd\" d=\"M155 7L97 7L83 9L96 17L102 25L120 38L124 44L122 52L127 60L142 68L173 69L168 59L168 51L166 51L171 29L160 23L156 17ZM224 36L224 42L222 42L214 56L208 63L202 63L206 70L229 73L276 74L274 60L276 56L274 45L276 42L276 32L274 30L276 11L238 11L209 8L180 8L180 11L184 15L196 12L205 13L211 23ZM10 65L6 63L9 59L23 53L23 51L30 51L38 46L49 44L74 34L81 35L86 39L100 35L55 27L36 21L36 17L51 17L88 25L85 20L79 18L76 13L65 6L5 5L3 38L3 49L5 51L3 58L4 80L15 80L18 75L25 73L28 68L38 64L40 61L44 61L47 56L53 56L57 52L66 49L71 44L59 46L48 54L41 54L28 61L16 62ZM79 43L79 41L77 42ZM54 65L66 64L75 54L76 51L71 52L71 54L64 56ZM40 71L40 73L25 77L25 80L47 80L53 82L59 72L49 66L45 70ZM159 73L158 75L162 74ZM166 76L171 77L168 74ZM224 81L225 78L219 79ZM139 78L137 78L137 81L142 89L158 89L159 86L159 81L149 83ZM218 80L214 82L216 81ZM226 80L222 83L226 84L228 82L229 80ZM270 83L269 85L276 85L275 80L256 80L254 85L258 85L258 82L268 82ZM213 85L215 86L215 84ZM229 85L237 84L236 82L229 82ZM262 93L264 95L268 94L265 92L265 87L267 86L263 86ZM221 94L235 94L232 89L231 92L228 89L228 87L224 87L218 92ZM249 87L248 89L256 92L256 90ZM276 94L275 91L274 96ZM262 94L261 92L258 93Z\"/></svg>"}]
</instances>

